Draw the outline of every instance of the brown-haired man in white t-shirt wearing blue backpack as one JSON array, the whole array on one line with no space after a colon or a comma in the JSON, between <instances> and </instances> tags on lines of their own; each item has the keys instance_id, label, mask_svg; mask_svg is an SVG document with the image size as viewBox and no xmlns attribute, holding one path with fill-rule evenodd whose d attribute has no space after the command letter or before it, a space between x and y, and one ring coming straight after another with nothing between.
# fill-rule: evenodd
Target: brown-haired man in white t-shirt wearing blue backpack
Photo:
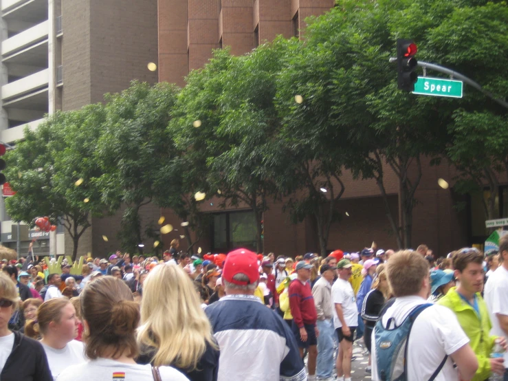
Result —
<instances>
[{"instance_id":1,"label":"brown-haired man in white t-shirt wearing blue backpack","mask_svg":"<svg viewBox=\"0 0 508 381\"><path fill-rule=\"evenodd\" d=\"M395 303L381 318L383 327L401 325L430 295L428 261L418 252L405 250L394 254L386 264L388 283L396 296ZM451 309L432 305L421 312L408 336L407 380L429 380L442 365L434 381L470 380L478 360L469 345L469 338ZM377 366L376 328L372 335L372 379L381 380ZM443 360L445 356L445 362ZM454 368L456 364L456 368Z\"/></svg>"}]
</instances>

